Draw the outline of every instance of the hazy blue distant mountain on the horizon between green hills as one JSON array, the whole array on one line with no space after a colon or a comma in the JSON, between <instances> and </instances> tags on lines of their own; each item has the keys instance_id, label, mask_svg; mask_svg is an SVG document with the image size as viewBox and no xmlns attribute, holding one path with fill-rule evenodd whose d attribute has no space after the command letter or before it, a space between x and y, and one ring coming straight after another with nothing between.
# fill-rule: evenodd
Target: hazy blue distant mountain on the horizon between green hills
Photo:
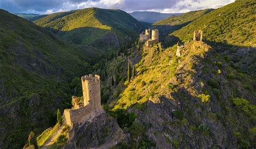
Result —
<instances>
[{"instance_id":1,"label":"hazy blue distant mountain on the horizon between green hills","mask_svg":"<svg viewBox=\"0 0 256 149\"><path fill-rule=\"evenodd\" d=\"M155 23L161 19L165 19L170 16L178 16L182 13L160 13L160 12L151 12L151 11L134 11L129 13L133 18L141 22Z\"/></svg>"}]
</instances>

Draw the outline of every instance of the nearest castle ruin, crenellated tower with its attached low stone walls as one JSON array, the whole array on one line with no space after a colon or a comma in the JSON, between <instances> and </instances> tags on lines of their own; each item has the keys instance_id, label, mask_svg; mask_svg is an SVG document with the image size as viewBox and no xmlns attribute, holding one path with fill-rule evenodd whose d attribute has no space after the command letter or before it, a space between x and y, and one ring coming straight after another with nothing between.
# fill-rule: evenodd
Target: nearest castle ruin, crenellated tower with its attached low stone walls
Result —
<instances>
[{"instance_id":1,"label":"nearest castle ruin, crenellated tower with its attached low stone walls","mask_svg":"<svg viewBox=\"0 0 256 149\"><path fill-rule=\"evenodd\" d=\"M104 112L100 103L100 77L99 75L82 76L83 102L72 96L72 109L65 109L63 113L64 123L73 126L83 124L86 120Z\"/></svg>"}]
</instances>

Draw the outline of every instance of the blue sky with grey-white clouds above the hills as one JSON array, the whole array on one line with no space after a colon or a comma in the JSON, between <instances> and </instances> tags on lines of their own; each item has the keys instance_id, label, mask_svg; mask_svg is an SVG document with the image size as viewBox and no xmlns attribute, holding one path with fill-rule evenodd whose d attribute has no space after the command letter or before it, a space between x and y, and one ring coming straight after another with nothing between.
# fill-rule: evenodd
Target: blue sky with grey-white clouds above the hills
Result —
<instances>
[{"instance_id":1,"label":"blue sky with grey-white clouds above the hills","mask_svg":"<svg viewBox=\"0 0 256 149\"><path fill-rule=\"evenodd\" d=\"M54 13L97 7L126 12L156 11L183 13L206 8L219 8L235 0L0 0L0 9L11 13Z\"/></svg>"}]
</instances>

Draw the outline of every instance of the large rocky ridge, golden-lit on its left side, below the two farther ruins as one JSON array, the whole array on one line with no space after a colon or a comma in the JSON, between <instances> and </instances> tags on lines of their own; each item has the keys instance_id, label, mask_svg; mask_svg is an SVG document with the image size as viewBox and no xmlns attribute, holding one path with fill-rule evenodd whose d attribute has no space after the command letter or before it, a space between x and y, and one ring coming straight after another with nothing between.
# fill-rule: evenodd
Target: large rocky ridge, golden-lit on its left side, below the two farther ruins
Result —
<instances>
[{"instance_id":1,"label":"large rocky ridge, golden-lit on its left side, below the two farther ruins","mask_svg":"<svg viewBox=\"0 0 256 149\"><path fill-rule=\"evenodd\" d=\"M129 147L255 146L255 81L201 41L144 48L137 75L112 110L137 118L126 127ZM124 146L124 144L118 144Z\"/></svg>"}]
</instances>

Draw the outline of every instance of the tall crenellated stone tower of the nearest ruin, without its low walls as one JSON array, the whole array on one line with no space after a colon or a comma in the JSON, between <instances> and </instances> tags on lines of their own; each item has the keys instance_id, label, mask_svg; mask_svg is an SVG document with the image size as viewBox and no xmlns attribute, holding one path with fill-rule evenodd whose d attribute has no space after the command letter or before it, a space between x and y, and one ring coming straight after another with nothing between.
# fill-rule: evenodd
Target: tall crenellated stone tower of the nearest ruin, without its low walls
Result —
<instances>
[{"instance_id":1,"label":"tall crenellated stone tower of the nearest ruin, without its low walls","mask_svg":"<svg viewBox=\"0 0 256 149\"><path fill-rule=\"evenodd\" d=\"M91 74L82 76L84 107L90 105L96 111L101 107L100 103L100 77Z\"/></svg>"}]
</instances>

